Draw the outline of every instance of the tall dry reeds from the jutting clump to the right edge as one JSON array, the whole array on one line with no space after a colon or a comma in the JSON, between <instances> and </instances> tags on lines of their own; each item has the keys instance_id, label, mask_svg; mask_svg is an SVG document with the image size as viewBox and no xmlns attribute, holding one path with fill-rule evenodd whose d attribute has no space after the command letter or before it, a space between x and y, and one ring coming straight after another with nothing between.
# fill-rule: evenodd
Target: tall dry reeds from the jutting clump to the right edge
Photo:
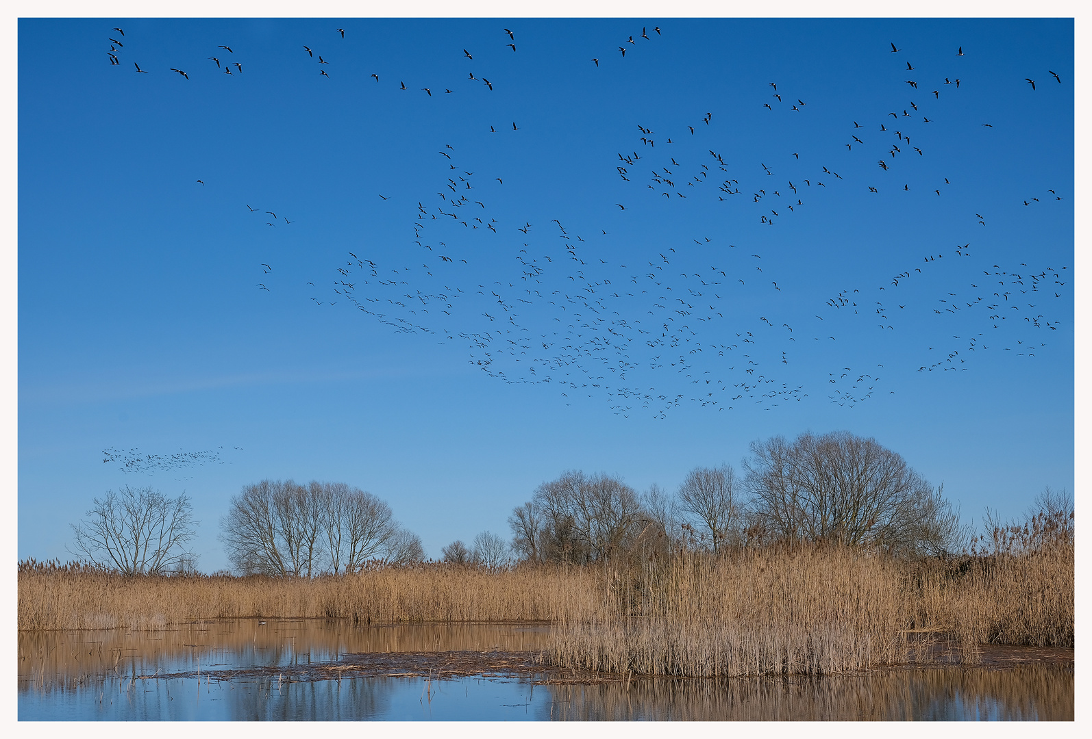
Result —
<instances>
[{"instance_id":1,"label":"tall dry reeds from the jutting clump to the right edge","mask_svg":"<svg viewBox=\"0 0 1092 739\"><path fill-rule=\"evenodd\" d=\"M595 619L563 619L554 661L679 677L973 663L977 644L1073 644L1073 548L905 560L841 547L684 554L600 570Z\"/></svg>"}]
</instances>

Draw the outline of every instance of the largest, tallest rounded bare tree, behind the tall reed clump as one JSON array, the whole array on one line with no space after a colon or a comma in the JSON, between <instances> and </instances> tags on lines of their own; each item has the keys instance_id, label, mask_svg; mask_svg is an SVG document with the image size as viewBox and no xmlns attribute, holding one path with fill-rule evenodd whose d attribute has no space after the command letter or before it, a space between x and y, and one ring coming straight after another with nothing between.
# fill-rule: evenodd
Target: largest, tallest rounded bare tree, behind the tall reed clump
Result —
<instances>
[{"instance_id":1,"label":"largest, tallest rounded bare tree, behind the tall reed clump","mask_svg":"<svg viewBox=\"0 0 1092 739\"><path fill-rule=\"evenodd\" d=\"M942 517L951 511L939 490L876 439L848 432L806 433L793 443L776 436L752 443L744 468L753 521L782 541L902 553L950 546Z\"/></svg>"}]
</instances>

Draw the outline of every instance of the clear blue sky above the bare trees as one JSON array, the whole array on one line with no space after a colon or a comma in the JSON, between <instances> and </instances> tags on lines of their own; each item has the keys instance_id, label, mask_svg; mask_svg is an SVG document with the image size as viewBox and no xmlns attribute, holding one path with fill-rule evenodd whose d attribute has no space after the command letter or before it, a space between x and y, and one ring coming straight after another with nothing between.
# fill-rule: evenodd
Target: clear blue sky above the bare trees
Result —
<instances>
[{"instance_id":1,"label":"clear blue sky above the bare trees","mask_svg":"<svg viewBox=\"0 0 1092 739\"><path fill-rule=\"evenodd\" d=\"M436 556L563 470L674 488L808 429L974 522L1073 489L1071 20L22 20L19 47L20 558L153 485L218 569L264 477L370 490Z\"/></svg>"}]
</instances>

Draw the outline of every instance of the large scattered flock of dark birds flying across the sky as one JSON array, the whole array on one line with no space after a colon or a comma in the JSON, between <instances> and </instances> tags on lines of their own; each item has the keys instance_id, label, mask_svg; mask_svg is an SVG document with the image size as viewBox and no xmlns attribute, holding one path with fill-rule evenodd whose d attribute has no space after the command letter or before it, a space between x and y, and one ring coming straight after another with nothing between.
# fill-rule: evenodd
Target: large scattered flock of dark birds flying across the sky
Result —
<instances>
[{"instance_id":1,"label":"large scattered flock of dark birds flying across the sky","mask_svg":"<svg viewBox=\"0 0 1092 739\"><path fill-rule=\"evenodd\" d=\"M120 28L114 31L123 38ZM618 59L626 59L627 51L632 53L641 45L655 44L662 34L658 26L651 34L642 27L640 34L619 44ZM517 52L513 31L503 28L498 36L498 44L506 41ZM346 43L345 29L334 29L330 40ZM110 63L120 65L122 44L114 37L110 41ZM223 74L241 74L240 63L225 61L234 58L233 49L218 48L223 51L210 57L210 64ZM657 133L634 121L636 133L613 165L629 192L625 203L615 204L618 213L654 207L652 199L731 201L746 204L757 225L773 227L800 218L812 203L850 189L869 196L924 190L928 196L943 198L953 187L948 177L916 182L903 162L930 155L929 143L935 141L930 126L940 114L935 109L942 97L959 95L962 81L952 74L942 82L928 82L916 74L903 49L891 44L890 52L900 54L893 64L899 77L910 77L899 83L905 85L905 99L879 119L847 121L843 142L847 156L876 162L869 181L843 178L833 165L812 161L807 155L802 158L798 152L791 153L787 166L728 161L716 150L712 112L670 132ZM331 76L330 60L317 48L304 46L299 53L314 64L318 75ZM962 57L962 47L953 56ZM605 58L592 58L589 63L600 68ZM473 61L474 53L463 49L463 59ZM139 65L136 70L145 72ZM190 80L181 69L170 71ZM466 72L467 82L494 90L489 78L475 76L470 69ZM1061 84L1056 73L1049 74ZM396 84L397 89L428 97L452 94L451 88L435 84L414 89L402 80L381 81L378 73L370 77L373 83L369 84ZM1035 82L1030 77L1025 82L1035 92ZM768 83L767 92L762 109L769 114L808 114L804 95L779 89L775 81ZM990 123L982 126L993 128ZM519 132L520 128L513 121L510 130ZM490 126L488 133L498 130ZM432 336L440 342L461 341L470 362L490 377L510 384L555 385L566 399L577 393L605 396L622 415L640 409L663 417L684 402L720 411L744 402L771 409L817 392L840 405L867 400L878 391L880 371L886 373L882 364L839 367L828 373L821 388L785 379L787 366L805 353L802 344L836 341L834 334L852 326L845 320L851 315L879 331L893 331L907 308L916 310L918 318L924 313L935 319L937 342L928 348L918 372L965 372L975 352L990 349L1034 356L1060 325L1049 306L1069 286L1066 266L994 264L978 270L982 276L975 281L952 291L951 281L968 271L959 265L974 262L971 243L909 259L889 281L847 287L817 305L812 315L779 318L773 308L762 306L776 304L782 293L779 281L784 281L779 280L775 266L763 263L763 256L770 255L759 249L693 234L697 238L619 259L604 245L609 235L606 229L573 228L559 218L510 222L489 202L490 194L505 186L505 172L480 172L477 162L451 144L435 156L441 174L416 202L397 261L391 261L390 245L381 253L364 247L346 251L343 262L332 269L332 284L324 286L331 291L316 289L311 301L322 307L349 306L394 331ZM1028 197L1023 206L1061 199L1049 190ZM293 222L273 210L245 205L248 215L254 214L250 217L264 227ZM986 218L974 216L973 222L985 228ZM497 250L506 254L507 264L494 258ZM259 265L262 275L272 272L271 262ZM949 289L929 295L938 276ZM307 286L316 287L313 282ZM265 281L258 282L257 289L271 291ZM748 305L756 308L747 311ZM1000 331L1009 326L1018 330ZM133 457L123 463L180 462L153 463Z\"/></svg>"}]
</instances>

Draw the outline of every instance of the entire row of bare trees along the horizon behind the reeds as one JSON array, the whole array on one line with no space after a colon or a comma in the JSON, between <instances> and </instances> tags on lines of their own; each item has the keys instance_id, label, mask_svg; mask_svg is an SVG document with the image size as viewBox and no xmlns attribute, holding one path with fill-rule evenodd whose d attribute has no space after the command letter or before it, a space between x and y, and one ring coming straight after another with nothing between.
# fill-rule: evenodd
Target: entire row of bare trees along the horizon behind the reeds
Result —
<instances>
[{"instance_id":1,"label":"entire row of bare trees along the horizon behind the reeds","mask_svg":"<svg viewBox=\"0 0 1092 739\"><path fill-rule=\"evenodd\" d=\"M699 467L672 492L653 484L638 493L617 475L562 472L512 510L511 540L485 531L471 545L448 544L441 559L497 569L802 543L917 557L976 552L982 542L1000 541L996 513L987 511L990 531L972 536L942 486L931 486L874 438L805 433L753 441L749 451L738 473L728 464ZM1033 517L1047 511L1052 523L1044 530L1071 535L1071 499L1049 490L1040 498L1025 517L1033 529L1046 525ZM124 573L194 567L187 545L198 522L186 495L126 487L96 498L87 517L72 526L70 552L83 562ZM246 485L219 523L238 574L311 578L425 559L420 538L394 519L385 501L345 483Z\"/></svg>"}]
</instances>

